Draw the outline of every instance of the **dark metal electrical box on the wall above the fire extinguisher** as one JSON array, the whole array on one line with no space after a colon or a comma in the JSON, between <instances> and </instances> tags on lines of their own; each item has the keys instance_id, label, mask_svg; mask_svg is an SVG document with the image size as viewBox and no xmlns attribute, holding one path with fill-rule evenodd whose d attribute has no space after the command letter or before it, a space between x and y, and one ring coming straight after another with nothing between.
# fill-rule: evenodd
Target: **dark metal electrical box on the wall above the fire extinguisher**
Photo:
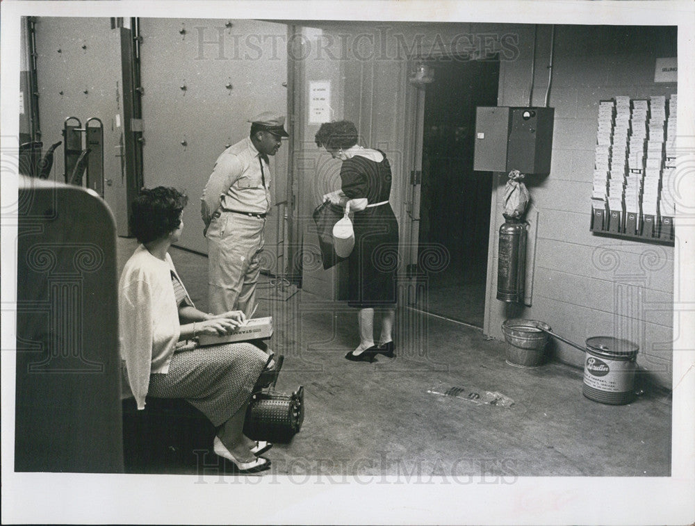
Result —
<instances>
[{"instance_id":1,"label":"dark metal electrical box on the wall above the fire extinguisher","mask_svg":"<svg viewBox=\"0 0 695 526\"><path fill-rule=\"evenodd\" d=\"M548 174L554 115L554 108L476 108L473 170Z\"/></svg>"}]
</instances>

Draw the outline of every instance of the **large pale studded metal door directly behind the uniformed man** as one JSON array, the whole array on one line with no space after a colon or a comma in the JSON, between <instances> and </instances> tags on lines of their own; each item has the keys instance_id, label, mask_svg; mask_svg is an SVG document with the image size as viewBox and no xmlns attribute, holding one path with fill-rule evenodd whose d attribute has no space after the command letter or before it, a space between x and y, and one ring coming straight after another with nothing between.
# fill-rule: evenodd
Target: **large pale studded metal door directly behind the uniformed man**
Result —
<instances>
[{"instance_id":1,"label":"large pale studded metal door directly behind the uniformed man","mask_svg":"<svg viewBox=\"0 0 695 526\"><path fill-rule=\"evenodd\" d=\"M142 46L145 186L188 195L179 246L207 252L200 197L215 160L247 137L263 111L287 115L287 26L259 20L139 19ZM264 269L277 269L287 203L287 144L272 158L273 206L265 229ZM280 258L281 259L281 258Z\"/></svg>"}]
</instances>

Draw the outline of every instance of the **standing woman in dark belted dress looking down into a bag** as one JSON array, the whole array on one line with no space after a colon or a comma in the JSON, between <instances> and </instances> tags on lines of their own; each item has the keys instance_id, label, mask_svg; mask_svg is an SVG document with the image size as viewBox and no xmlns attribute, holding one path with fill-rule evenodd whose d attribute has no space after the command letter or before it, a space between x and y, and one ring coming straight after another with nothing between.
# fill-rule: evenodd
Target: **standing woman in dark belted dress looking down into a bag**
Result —
<instances>
[{"instance_id":1,"label":"standing woman in dark belted dress looking down into a bag","mask_svg":"<svg viewBox=\"0 0 695 526\"><path fill-rule=\"evenodd\" d=\"M316 145L343 161L341 189L324 200L354 212L354 249L348 258L347 304L359 309L359 345L345 354L352 361L373 361L376 354L395 356L395 270L398 262L398 222L391 204L391 165L381 150L357 144L357 128L350 121L325 122ZM374 342L375 316L380 323Z\"/></svg>"}]
</instances>

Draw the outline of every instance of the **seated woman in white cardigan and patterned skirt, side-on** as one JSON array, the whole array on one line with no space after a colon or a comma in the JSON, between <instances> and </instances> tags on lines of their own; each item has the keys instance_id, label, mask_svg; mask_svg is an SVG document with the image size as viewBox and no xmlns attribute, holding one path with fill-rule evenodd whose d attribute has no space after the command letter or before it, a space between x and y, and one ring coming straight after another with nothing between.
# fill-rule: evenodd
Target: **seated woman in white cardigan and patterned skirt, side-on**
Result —
<instances>
[{"instance_id":1,"label":"seated woman in white cardigan and patterned skirt, side-on","mask_svg":"<svg viewBox=\"0 0 695 526\"><path fill-rule=\"evenodd\" d=\"M145 409L147 395L184 398L219 427L213 446L242 472L270 467L256 457L268 443L243 434L252 391L271 358L250 343L198 347L199 334L222 335L245 322L241 311L220 315L195 309L174 269L169 247L181 237L188 198L159 186L134 200L131 228L141 243L118 286L124 379Z\"/></svg>"}]
</instances>

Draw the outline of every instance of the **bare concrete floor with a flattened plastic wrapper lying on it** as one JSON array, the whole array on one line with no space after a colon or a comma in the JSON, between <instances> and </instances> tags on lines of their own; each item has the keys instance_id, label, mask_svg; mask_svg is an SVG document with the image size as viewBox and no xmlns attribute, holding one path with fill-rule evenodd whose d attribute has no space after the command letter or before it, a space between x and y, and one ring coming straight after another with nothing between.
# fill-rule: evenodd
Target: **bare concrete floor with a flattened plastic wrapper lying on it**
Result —
<instances>
[{"instance_id":1,"label":"bare concrete floor with a flattened plastic wrapper lying on it","mask_svg":"<svg viewBox=\"0 0 695 526\"><path fill-rule=\"evenodd\" d=\"M119 269L135 247L133 239L118 240ZM176 248L171 255L206 310L206 256ZM669 393L646 390L632 404L600 404L582 396L582 370L512 367L504 342L404 307L398 356L353 363L343 354L358 343L356 311L301 290L285 299L293 291L265 278L256 313L273 316L272 349L286 357L277 389L305 391L301 432L266 455L277 475L670 475ZM430 392L450 388L481 400L498 393L513 404Z\"/></svg>"}]
</instances>

